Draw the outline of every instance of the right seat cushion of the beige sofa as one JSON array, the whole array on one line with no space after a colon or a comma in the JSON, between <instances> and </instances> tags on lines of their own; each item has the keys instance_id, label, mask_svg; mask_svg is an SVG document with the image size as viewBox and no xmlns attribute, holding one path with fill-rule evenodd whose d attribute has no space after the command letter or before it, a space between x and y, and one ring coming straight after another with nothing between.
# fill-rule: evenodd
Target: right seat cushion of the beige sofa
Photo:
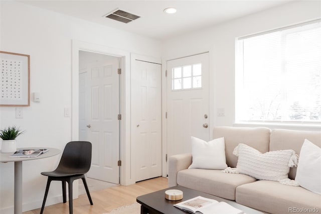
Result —
<instances>
[{"instance_id":1,"label":"right seat cushion of the beige sofa","mask_svg":"<svg viewBox=\"0 0 321 214\"><path fill-rule=\"evenodd\" d=\"M321 195L276 181L259 180L240 185L235 197L237 203L270 213L296 212L295 208L321 210Z\"/></svg>"}]
</instances>

